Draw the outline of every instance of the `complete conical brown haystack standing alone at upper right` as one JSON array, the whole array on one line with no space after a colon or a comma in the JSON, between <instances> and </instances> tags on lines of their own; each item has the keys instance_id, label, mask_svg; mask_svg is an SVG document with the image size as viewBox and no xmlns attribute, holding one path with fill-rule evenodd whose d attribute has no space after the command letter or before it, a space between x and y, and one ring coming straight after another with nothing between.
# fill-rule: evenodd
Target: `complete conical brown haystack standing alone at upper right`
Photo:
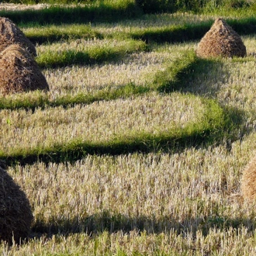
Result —
<instances>
[{"instance_id":1,"label":"complete conical brown haystack standing alone at upper right","mask_svg":"<svg viewBox=\"0 0 256 256\"><path fill-rule=\"evenodd\" d=\"M234 29L223 19L216 19L199 42L196 53L199 57L244 57L246 47Z\"/></svg>"}]
</instances>

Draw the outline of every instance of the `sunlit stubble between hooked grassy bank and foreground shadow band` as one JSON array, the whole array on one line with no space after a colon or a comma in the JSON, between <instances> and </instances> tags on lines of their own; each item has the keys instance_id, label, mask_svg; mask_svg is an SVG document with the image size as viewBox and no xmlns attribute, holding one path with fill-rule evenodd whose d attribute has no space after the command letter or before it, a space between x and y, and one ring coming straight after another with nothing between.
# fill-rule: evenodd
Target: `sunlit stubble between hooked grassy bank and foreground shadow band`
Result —
<instances>
[{"instance_id":1,"label":"sunlit stubble between hooked grassy bank and foreground shadow band","mask_svg":"<svg viewBox=\"0 0 256 256\"><path fill-rule=\"evenodd\" d=\"M46 225L72 223L73 218L82 225L86 217L106 210L130 219L131 230L144 216L155 218L155 223L145 220L147 231L153 231L154 225L170 230L182 222L196 229L196 218L208 218L218 207L223 216L239 216L245 210L239 210L230 196L239 192L240 166L247 158L239 153L234 150L229 155L224 147L217 147L174 155L88 156L74 165L34 164L10 173L29 192L36 221ZM234 157L241 157L240 161Z\"/></svg>"}]
</instances>

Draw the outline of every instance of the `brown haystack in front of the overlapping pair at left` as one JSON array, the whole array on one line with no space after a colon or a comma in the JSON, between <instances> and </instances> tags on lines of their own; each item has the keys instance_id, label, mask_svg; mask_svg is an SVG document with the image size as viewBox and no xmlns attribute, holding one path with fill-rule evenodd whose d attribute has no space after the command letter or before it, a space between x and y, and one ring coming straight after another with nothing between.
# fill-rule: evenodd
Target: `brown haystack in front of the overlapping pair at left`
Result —
<instances>
[{"instance_id":1,"label":"brown haystack in front of the overlapping pair at left","mask_svg":"<svg viewBox=\"0 0 256 256\"><path fill-rule=\"evenodd\" d=\"M0 93L49 90L46 78L31 55L17 44L0 53Z\"/></svg>"}]
</instances>

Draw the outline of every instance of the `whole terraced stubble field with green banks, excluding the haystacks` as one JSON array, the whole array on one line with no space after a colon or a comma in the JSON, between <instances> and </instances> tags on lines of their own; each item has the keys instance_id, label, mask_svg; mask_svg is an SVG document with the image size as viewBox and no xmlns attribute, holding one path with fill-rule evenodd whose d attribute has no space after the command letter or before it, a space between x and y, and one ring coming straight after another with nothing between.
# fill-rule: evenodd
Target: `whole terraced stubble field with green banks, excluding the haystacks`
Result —
<instances>
[{"instance_id":1,"label":"whole terraced stubble field with green banks, excluding the haystacks","mask_svg":"<svg viewBox=\"0 0 256 256\"><path fill-rule=\"evenodd\" d=\"M0 253L254 254L240 196L256 150L254 2L47 3L0 9L50 85L0 99L0 164L35 218ZM247 57L196 57L219 16Z\"/></svg>"}]
</instances>

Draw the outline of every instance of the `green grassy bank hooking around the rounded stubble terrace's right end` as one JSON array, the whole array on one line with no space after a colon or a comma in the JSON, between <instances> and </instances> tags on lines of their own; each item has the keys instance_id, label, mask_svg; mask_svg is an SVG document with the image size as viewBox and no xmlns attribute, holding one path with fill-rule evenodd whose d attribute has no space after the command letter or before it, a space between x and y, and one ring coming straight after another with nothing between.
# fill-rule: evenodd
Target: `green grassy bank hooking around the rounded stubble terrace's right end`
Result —
<instances>
[{"instance_id":1,"label":"green grassy bank hooking around the rounded stubble terrace's right end","mask_svg":"<svg viewBox=\"0 0 256 256\"><path fill-rule=\"evenodd\" d=\"M195 95L182 95L196 98ZM53 144L50 147L35 147L30 150L13 150L9 154L0 152L0 158L7 165L32 164L44 162L74 162L87 154L128 154L133 152L175 151L200 144L213 144L223 140L230 129L230 117L220 105L212 99L200 97L205 111L198 113L197 122L188 123L184 128L168 130L161 134L135 133L120 134L105 143L92 143L83 140L71 140L65 144Z\"/></svg>"}]
</instances>

